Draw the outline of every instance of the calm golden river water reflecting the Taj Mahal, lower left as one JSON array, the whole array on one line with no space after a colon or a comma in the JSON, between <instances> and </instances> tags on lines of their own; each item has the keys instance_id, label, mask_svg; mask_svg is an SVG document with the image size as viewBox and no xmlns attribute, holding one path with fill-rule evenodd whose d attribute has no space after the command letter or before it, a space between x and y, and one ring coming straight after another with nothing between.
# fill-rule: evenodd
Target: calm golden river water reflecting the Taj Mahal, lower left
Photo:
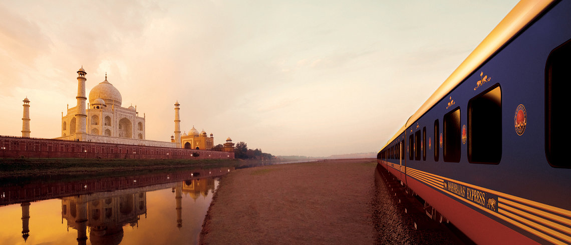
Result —
<instances>
[{"instance_id":1,"label":"calm golden river water reflecting the Taj Mahal, lower left","mask_svg":"<svg viewBox=\"0 0 571 245\"><path fill-rule=\"evenodd\" d=\"M0 244L196 244L233 170L3 183Z\"/></svg>"}]
</instances>

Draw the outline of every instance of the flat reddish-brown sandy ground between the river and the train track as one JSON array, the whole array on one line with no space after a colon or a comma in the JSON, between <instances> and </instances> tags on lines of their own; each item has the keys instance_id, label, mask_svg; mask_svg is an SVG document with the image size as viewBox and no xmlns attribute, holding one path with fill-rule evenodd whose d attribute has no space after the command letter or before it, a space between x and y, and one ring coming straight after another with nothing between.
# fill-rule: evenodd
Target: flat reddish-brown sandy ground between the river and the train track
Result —
<instances>
[{"instance_id":1,"label":"flat reddish-brown sandy ground between the river and the train track","mask_svg":"<svg viewBox=\"0 0 571 245\"><path fill-rule=\"evenodd\" d=\"M223 177L200 244L372 244L374 159L245 168Z\"/></svg>"}]
</instances>

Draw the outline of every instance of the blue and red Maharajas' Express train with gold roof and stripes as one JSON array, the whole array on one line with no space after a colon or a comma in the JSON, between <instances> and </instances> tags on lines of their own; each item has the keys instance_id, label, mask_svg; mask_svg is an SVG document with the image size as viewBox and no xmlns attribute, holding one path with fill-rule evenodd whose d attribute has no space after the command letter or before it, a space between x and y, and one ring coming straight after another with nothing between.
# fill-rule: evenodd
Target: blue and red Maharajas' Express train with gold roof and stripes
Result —
<instances>
[{"instance_id":1,"label":"blue and red Maharajas' Express train with gold roof and stripes","mask_svg":"<svg viewBox=\"0 0 571 245\"><path fill-rule=\"evenodd\" d=\"M571 244L570 86L571 1L520 1L381 147L377 170L476 244Z\"/></svg>"}]
</instances>

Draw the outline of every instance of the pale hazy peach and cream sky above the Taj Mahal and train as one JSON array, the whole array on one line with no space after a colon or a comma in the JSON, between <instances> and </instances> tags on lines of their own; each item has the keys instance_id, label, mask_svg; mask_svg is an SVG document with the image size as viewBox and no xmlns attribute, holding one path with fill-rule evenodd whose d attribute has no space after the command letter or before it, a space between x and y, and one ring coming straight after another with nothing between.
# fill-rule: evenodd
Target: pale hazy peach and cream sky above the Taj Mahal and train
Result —
<instances>
[{"instance_id":1,"label":"pale hazy peach and cream sky above the Taj Mahal and train","mask_svg":"<svg viewBox=\"0 0 571 245\"><path fill-rule=\"evenodd\" d=\"M0 135L61 136L105 73L169 141L194 125L274 155L378 151L517 1L3 1Z\"/></svg>"}]
</instances>

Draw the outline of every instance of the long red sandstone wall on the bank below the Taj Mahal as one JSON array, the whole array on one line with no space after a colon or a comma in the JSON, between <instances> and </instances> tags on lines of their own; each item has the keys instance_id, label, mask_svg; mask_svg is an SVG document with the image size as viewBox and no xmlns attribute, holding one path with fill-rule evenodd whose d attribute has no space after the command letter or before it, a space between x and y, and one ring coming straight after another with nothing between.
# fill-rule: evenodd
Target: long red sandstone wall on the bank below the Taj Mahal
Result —
<instances>
[{"instance_id":1,"label":"long red sandstone wall on the bank below the Taj Mahal","mask_svg":"<svg viewBox=\"0 0 571 245\"><path fill-rule=\"evenodd\" d=\"M0 136L0 151L2 158L234 159L234 152L15 136Z\"/></svg>"}]
</instances>

